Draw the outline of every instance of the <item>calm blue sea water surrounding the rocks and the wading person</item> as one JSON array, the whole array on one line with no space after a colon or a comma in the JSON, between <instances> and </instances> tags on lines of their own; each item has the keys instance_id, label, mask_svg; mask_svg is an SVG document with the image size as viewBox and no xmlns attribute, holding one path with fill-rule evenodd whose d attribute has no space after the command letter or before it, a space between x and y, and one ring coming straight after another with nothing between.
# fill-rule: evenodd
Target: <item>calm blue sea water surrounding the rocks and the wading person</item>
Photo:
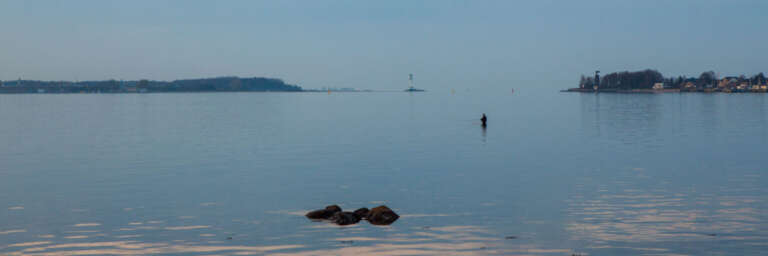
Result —
<instances>
[{"instance_id":1,"label":"calm blue sea water surrounding the rocks and the wading person","mask_svg":"<svg viewBox=\"0 0 768 256\"><path fill-rule=\"evenodd\" d=\"M0 95L0 141L0 254L768 251L765 94Z\"/></svg>"}]
</instances>

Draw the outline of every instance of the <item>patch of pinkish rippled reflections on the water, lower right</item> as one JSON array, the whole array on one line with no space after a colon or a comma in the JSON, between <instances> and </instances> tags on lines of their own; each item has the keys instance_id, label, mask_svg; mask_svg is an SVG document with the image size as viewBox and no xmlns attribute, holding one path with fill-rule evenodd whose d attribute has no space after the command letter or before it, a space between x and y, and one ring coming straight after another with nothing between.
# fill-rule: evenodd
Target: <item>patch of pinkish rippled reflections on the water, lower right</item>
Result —
<instances>
[{"instance_id":1,"label":"patch of pinkish rippled reflections on the water, lower right","mask_svg":"<svg viewBox=\"0 0 768 256\"><path fill-rule=\"evenodd\" d=\"M664 185L640 186L640 182L628 176L596 188L581 185L579 193L568 201L568 215L572 219L567 230L572 239L583 241L585 248L602 253L606 253L604 250L624 254L681 253L673 249L649 249L669 243L695 244L692 247L697 249L693 252L699 253L694 254L763 251L768 249L765 244L747 242L768 238L768 231L763 228L767 212L759 207L765 204L765 199L755 193L762 188L744 181L731 179L727 181L731 184L723 184L716 193ZM592 195L593 189L596 195Z\"/></svg>"}]
</instances>

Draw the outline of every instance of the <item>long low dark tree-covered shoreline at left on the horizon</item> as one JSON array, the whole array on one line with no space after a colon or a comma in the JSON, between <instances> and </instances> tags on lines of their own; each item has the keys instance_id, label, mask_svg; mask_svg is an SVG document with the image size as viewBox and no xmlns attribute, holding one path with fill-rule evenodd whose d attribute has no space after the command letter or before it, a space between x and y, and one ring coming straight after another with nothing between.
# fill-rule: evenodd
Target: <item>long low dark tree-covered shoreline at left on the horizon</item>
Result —
<instances>
[{"instance_id":1,"label":"long low dark tree-covered shoreline at left on the horizon","mask_svg":"<svg viewBox=\"0 0 768 256\"><path fill-rule=\"evenodd\" d=\"M302 92L298 85L275 78L224 76L174 81L0 81L0 94L21 93L156 93L156 92Z\"/></svg>"}]
</instances>

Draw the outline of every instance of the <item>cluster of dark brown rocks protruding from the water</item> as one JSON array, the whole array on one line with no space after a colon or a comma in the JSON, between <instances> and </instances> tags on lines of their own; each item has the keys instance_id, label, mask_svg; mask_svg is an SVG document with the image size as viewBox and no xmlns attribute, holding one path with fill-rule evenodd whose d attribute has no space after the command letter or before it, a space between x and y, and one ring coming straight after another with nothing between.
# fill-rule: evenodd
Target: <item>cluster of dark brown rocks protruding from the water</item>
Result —
<instances>
[{"instance_id":1,"label":"cluster of dark brown rocks protruding from the water","mask_svg":"<svg viewBox=\"0 0 768 256\"><path fill-rule=\"evenodd\" d=\"M329 220L338 225L356 224L363 219L373 225L389 225L400 218L397 213L384 205L370 210L363 207L354 212L343 212L338 205L329 205L325 209L311 211L305 216L311 220Z\"/></svg>"}]
</instances>

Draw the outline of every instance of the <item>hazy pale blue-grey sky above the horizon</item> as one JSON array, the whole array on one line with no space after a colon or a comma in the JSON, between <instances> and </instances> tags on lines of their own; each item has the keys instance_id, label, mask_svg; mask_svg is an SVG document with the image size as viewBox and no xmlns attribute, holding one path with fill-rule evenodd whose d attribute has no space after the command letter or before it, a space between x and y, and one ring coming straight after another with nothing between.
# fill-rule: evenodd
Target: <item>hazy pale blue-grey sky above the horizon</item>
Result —
<instances>
[{"instance_id":1,"label":"hazy pale blue-grey sky above the horizon","mask_svg":"<svg viewBox=\"0 0 768 256\"><path fill-rule=\"evenodd\" d=\"M574 87L768 71L768 1L2 0L0 80L280 78L304 88Z\"/></svg>"}]
</instances>

